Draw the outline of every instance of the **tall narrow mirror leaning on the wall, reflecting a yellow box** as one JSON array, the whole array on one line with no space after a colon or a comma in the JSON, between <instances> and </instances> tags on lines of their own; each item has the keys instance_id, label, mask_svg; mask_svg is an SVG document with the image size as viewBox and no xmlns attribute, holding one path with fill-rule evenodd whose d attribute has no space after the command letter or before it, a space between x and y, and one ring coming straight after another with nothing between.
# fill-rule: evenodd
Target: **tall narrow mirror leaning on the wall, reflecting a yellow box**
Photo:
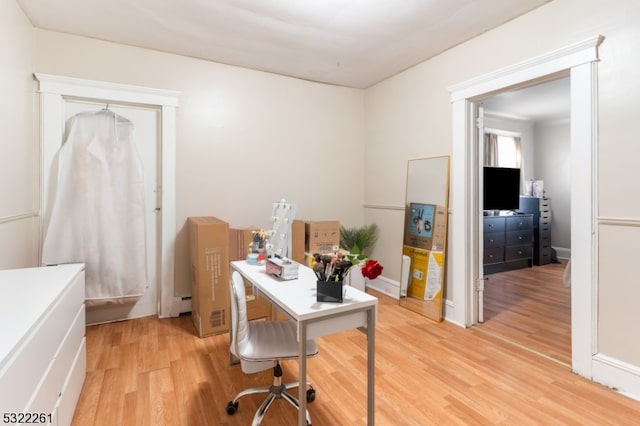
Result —
<instances>
[{"instance_id":1,"label":"tall narrow mirror leaning on the wall, reflecting a yellow box","mask_svg":"<svg viewBox=\"0 0 640 426\"><path fill-rule=\"evenodd\" d=\"M449 156L407 163L400 305L442 320Z\"/></svg>"}]
</instances>

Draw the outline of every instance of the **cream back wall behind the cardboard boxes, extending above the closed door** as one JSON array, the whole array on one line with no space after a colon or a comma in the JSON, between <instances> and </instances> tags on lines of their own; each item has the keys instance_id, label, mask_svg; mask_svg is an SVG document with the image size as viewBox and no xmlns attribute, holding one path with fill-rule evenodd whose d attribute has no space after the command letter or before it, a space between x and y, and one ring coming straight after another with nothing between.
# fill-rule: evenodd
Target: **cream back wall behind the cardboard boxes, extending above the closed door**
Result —
<instances>
[{"instance_id":1,"label":"cream back wall behind the cardboard boxes, extending above the closed door","mask_svg":"<svg viewBox=\"0 0 640 426\"><path fill-rule=\"evenodd\" d=\"M50 31L36 72L181 93L176 295L190 294L188 216L269 225L285 198L301 219L362 223L363 92Z\"/></svg>"}]
</instances>

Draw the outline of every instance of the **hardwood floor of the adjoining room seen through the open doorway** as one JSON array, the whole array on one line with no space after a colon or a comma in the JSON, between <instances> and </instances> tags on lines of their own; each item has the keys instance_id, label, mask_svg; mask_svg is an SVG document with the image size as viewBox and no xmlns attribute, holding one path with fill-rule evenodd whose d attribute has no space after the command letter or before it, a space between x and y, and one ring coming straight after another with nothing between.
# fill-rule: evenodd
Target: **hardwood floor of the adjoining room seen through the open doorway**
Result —
<instances>
[{"instance_id":1,"label":"hardwood floor of the adjoining room seen through the open doorway","mask_svg":"<svg viewBox=\"0 0 640 426\"><path fill-rule=\"evenodd\" d=\"M487 275L482 331L571 365L571 289L566 261Z\"/></svg>"}]
</instances>

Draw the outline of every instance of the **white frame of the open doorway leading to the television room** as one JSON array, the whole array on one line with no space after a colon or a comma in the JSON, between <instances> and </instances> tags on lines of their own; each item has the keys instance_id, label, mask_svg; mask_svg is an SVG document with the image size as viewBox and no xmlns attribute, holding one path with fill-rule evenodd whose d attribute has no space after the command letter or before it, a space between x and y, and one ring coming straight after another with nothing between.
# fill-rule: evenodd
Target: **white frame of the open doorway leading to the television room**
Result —
<instances>
[{"instance_id":1,"label":"white frame of the open doorway leading to the television room","mask_svg":"<svg viewBox=\"0 0 640 426\"><path fill-rule=\"evenodd\" d=\"M531 60L449 88L453 111L452 269L453 306L447 318L466 327L477 324L476 288L482 214L478 196L478 103L498 93L555 79L571 78L571 352L572 369L592 377L597 331L596 156L598 35Z\"/></svg>"}]
</instances>

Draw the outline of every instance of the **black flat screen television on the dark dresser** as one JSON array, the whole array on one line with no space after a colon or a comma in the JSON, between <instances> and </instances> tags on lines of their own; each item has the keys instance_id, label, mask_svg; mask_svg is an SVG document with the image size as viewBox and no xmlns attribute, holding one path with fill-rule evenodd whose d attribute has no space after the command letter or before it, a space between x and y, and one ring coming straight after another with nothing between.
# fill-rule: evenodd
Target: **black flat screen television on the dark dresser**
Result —
<instances>
[{"instance_id":1,"label":"black flat screen television on the dark dresser","mask_svg":"<svg viewBox=\"0 0 640 426\"><path fill-rule=\"evenodd\" d=\"M484 167L483 210L520 208L520 169Z\"/></svg>"}]
</instances>

